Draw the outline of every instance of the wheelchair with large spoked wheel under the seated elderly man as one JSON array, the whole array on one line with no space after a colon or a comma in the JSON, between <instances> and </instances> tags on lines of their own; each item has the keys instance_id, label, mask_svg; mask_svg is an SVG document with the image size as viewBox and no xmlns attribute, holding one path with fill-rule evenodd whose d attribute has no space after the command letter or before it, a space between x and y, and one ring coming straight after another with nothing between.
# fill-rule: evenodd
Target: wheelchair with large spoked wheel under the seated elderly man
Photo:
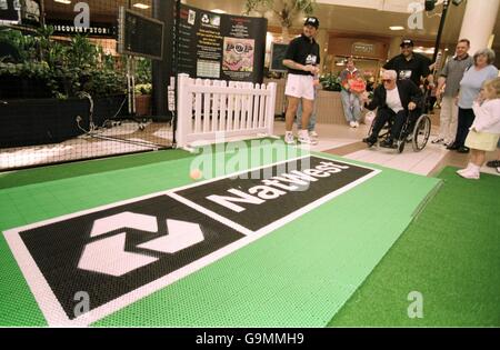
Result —
<instances>
[{"instance_id":1,"label":"wheelchair with large spoked wheel under the seated elderly man","mask_svg":"<svg viewBox=\"0 0 500 350\"><path fill-rule=\"evenodd\" d=\"M368 136L371 136L377 118L378 113L371 123L370 132L368 133ZM393 120L391 119L381 130L379 140L387 140L390 137L392 123ZM394 140L396 150L399 153L402 153L407 143L411 143L414 152L422 151L429 142L431 127L432 122L428 114L420 114L420 117L417 119L411 118L410 116L409 118L407 118L407 121L401 128L401 133L398 137L392 138Z\"/></svg>"}]
</instances>

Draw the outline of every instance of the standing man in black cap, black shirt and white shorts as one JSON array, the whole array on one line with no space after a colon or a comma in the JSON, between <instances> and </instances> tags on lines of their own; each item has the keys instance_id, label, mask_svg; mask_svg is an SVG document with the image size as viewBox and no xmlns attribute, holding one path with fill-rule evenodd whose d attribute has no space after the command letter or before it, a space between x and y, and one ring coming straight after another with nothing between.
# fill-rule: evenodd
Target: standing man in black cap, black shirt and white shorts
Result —
<instances>
[{"instance_id":1,"label":"standing man in black cap, black shirt and white shorts","mask_svg":"<svg viewBox=\"0 0 500 350\"><path fill-rule=\"evenodd\" d=\"M284 56L283 66L288 68L287 88L288 98L287 133L284 142L294 143L292 128L299 102L302 102L302 130L299 131L299 142L314 143L308 133L309 118L314 102L314 76L319 73L320 48L314 40L319 21L309 17L303 23L303 32L293 39Z\"/></svg>"}]
</instances>

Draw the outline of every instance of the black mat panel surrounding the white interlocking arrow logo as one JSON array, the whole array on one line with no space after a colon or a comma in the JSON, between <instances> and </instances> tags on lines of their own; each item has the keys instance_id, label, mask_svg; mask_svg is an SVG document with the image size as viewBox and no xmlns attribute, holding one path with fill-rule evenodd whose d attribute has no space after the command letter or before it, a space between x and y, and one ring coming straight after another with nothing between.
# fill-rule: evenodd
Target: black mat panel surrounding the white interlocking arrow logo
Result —
<instances>
[{"instance_id":1,"label":"black mat panel surrounding the white interlocking arrow logo","mask_svg":"<svg viewBox=\"0 0 500 350\"><path fill-rule=\"evenodd\" d=\"M96 220L123 212L154 217L158 222L158 232L119 228L94 238L90 237ZM168 236L168 219L199 224L203 240L176 253L138 248L159 237ZM126 224L123 222L123 226ZM112 237L118 238L123 233L126 234L124 251L158 260L119 277L79 268L86 246L109 240ZM92 310L243 237L236 230L167 196L56 222L23 231L20 236L70 319L74 319L73 309L78 301L73 299L79 291L89 293L90 310ZM112 256L111 251L109 256ZM102 259L102 254L96 258ZM112 263L110 261L110 264Z\"/></svg>"}]
</instances>

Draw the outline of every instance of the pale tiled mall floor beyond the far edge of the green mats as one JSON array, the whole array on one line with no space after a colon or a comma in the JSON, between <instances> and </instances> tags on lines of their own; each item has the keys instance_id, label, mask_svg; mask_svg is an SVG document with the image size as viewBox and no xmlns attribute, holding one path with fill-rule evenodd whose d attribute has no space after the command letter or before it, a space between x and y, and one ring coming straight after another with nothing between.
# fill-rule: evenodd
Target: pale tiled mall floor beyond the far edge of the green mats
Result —
<instances>
[{"instance_id":1,"label":"pale tiled mall floor beyond the far edge of the green mats","mask_svg":"<svg viewBox=\"0 0 500 350\"><path fill-rule=\"evenodd\" d=\"M439 117L433 116L433 123L437 123L436 119L439 119ZM143 131L138 128L137 123L123 123L118 128L100 132L98 139L81 137L59 144L2 150L0 152L0 169L148 150L167 142L172 137L171 129L167 126L151 124L147 126ZM347 124L318 124L316 131L320 138L319 143L311 148L313 151L329 152L347 159L376 163L422 176L434 176L446 166L464 167L468 163L467 156L447 151L443 146L436 146L431 142L421 152L414 152L411 144L408 144L402 154L399 154L396 150L368 149L361 142L369 131L369 126L366 124L361 124L358 129L349 128ZM434 126L431 140L436 138L437 132ZM274 134L284 134L283 121L276 121ZM112 137L116 136L128 139L128 142L114 141ZM226 141L229 141L229 139ZM496 152L489 153L488 160L496 157L498 157ZM496 169L487 167L482 171L498 174Z\"/></svg>"}]
</instances>

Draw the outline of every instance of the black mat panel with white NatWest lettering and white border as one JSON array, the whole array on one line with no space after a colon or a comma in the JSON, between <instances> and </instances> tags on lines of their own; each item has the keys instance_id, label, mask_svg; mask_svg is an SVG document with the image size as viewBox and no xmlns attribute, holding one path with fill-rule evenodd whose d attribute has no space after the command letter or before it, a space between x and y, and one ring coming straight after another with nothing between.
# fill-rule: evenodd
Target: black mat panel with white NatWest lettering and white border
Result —
<instances>
[{"instance_id":1,"label":"black mat panel with white NatWest lettering and white border","mask_svg":"<svg viewBox=\"0 0 500 350\"><path fill-rule=\"evenodd\" d=\"M377 173L341 161L303 157L173 191L172 196L209 216L258 231ZM200 187L204 186L203 191Z\"/></svg>"}]
</instances>

